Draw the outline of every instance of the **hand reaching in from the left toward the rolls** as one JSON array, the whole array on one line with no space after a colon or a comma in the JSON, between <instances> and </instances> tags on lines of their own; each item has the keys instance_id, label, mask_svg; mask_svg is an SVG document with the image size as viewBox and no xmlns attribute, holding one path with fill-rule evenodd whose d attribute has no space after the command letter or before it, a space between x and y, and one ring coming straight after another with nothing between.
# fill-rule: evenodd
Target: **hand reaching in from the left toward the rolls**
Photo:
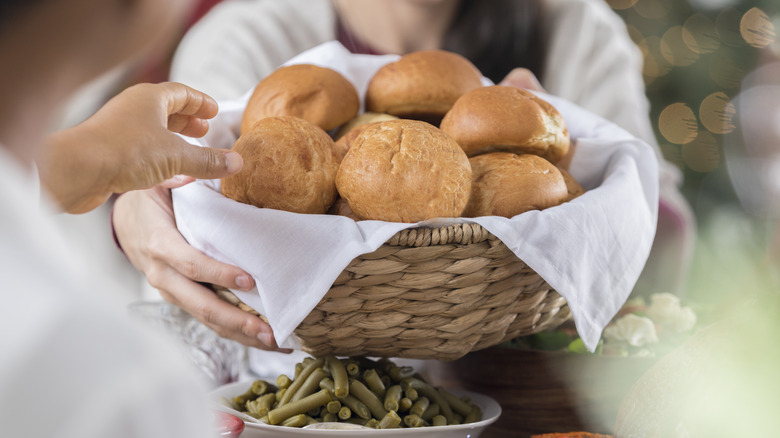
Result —
<instances>
[{"instance_id":1,"label":"hand reaching in from the left toward the rolls","mask_svg":"<svg viewBox=\"0 0 780 438\"><path fill-rule=\"evenodd\" d=\"M236 173L243 166L237 153L174 134L202 137L216 114L211 97L182 84L130 87L85 122L49 137L38 163L41 181L66 211L83 213L112 193Z\"/></svg>"}]
</instances>

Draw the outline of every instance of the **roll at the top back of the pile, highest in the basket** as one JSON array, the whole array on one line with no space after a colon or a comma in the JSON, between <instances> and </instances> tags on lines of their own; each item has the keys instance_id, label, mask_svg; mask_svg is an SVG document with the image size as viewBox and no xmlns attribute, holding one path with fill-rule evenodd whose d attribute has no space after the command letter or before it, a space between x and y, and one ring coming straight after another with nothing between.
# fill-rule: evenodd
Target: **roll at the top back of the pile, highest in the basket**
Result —
<instances>
[{"instance_id":1,"label":"roll at the top back of the pile, highest in the basket","mask_svg":"<svg viewBox=\"0 0 780 438\"><path fill-rule=\"evenodd\" d=\"M366 90L366 110L437 125L463 93L482 86L468 59L444 50L422 50L384 65Z\"/></svg>"}]
</instances>

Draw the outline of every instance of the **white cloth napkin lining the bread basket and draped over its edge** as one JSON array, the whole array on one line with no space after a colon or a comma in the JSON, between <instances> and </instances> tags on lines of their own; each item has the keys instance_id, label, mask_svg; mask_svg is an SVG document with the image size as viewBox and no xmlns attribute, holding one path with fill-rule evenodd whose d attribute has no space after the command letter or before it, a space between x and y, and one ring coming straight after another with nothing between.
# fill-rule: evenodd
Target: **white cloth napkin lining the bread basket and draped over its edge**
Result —
<instances>
[{"instance_id":1,"label":"white cloth napkin lining the bread basket and draped over its edge","mask_svg":"<svg viewBox=\"0 0 780 438\"><path fill-rule=\"evenodd\" d=\"M329 42L288 64L337 70L363 96L374 72L395 59L353 55ZM233 145L250 93L220 103L202 144ZM540 97L561 112L577 141L570 171L588 191L572 202L511 219L439 219L436 224L476 222L501 239L567 300L577 331L592 351L650 253L658 213L658 163L648 144L618 126L554 96ZM425 224L355 222L261 209L225 198L219 184L200 180L174 190L176 223L192 246L254 277L256 290L233 292L268 318L283 347L300 347L293 330L350 261L402 229Z\"/></svg>"}]
</instances>

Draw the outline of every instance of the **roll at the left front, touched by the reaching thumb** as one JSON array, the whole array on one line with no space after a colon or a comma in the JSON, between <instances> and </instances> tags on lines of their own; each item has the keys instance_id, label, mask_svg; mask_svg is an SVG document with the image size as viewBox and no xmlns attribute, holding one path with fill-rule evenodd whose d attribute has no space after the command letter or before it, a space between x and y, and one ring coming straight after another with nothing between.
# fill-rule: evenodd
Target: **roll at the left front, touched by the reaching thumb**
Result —
<instances>
[{"instance_id":1,"label":"roll at the left front, touched by the reaching thumb","mask_svg":"<svg viewBox=\"0 0 780 438\"><path fill-rule=\"evenodd\" d=\"M244 167L222 180L222 194L261 208L325 213L336 200L339 156L333 139L306 120L256 122L233 145Z\"/></svg>"}]
</instances>

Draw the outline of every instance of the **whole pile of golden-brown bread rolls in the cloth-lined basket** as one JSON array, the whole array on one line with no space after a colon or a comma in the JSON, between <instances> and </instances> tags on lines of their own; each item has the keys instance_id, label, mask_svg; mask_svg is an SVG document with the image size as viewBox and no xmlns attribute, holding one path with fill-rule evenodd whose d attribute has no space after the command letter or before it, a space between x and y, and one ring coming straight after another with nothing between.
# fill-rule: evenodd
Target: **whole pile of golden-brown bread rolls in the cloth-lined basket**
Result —
<instances>
[{"instance_id":1,"label":"whole pile of golden-brown bread rolls in the cloth-lined basket","mask_svg":"<svg viewBox=\"0 0 780 438\"><path fill-rule=\"evenodd\" d=\"M427 50L380 68L358 115L355 87L313 65L255 88L233 146L241 172L222 193L261 208L414 223L513 217L584 192L556 164L569 152L560 113L513 87L482 86L460 55Z\"/></svg>"}]
</instances>

